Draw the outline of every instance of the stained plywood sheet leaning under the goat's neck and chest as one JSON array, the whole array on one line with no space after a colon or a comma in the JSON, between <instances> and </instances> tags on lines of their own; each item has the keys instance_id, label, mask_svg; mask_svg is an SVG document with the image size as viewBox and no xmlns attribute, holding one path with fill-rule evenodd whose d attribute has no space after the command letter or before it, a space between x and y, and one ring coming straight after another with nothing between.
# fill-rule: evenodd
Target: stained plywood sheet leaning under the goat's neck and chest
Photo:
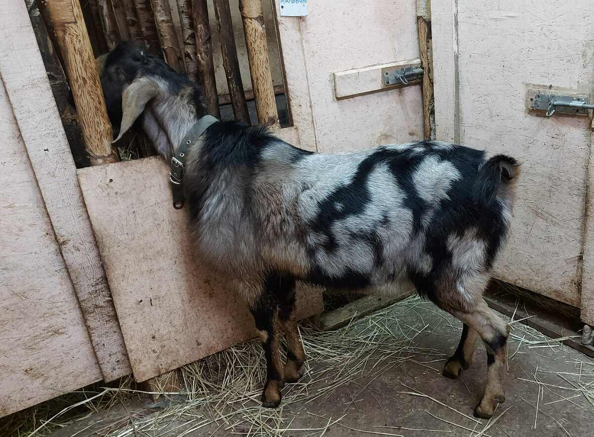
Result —
<instances>
[{"instance_id":1,"label":"stained plywood sheet leaning under the goat's neck and chest","mask_svg":"<svg viewBox=\"0 0 594 437\"><path fill-rule=\"evenodd\" d=\"M195 256L168 171L159 157L78 170L138 381L255 334L245 302ZM321 312L320 292L300 289L297 305L299 317Z\"/></svg>"}]
</instances>

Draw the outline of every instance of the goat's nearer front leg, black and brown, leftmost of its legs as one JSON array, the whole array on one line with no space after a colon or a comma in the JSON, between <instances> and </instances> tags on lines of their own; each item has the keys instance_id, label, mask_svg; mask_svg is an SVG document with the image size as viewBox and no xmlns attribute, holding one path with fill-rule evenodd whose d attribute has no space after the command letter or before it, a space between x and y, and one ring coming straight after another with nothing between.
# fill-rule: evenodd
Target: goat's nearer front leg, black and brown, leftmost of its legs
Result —
<instances>
[{"instance_id":1,"label":"goat's nearer front leg, black and brown, leftmost of its legs","mask_svg":"<svg viewBox=\"0 0 594 437\"><path fill-rule=\"evenodd\" d=\"M274 408L280 404L280 390L283 388L283 366L279 350L278 307L273 296L263 293L250 308L266 356L266 383L262 395L262 406Z\"/></svg>"}]
</instances>

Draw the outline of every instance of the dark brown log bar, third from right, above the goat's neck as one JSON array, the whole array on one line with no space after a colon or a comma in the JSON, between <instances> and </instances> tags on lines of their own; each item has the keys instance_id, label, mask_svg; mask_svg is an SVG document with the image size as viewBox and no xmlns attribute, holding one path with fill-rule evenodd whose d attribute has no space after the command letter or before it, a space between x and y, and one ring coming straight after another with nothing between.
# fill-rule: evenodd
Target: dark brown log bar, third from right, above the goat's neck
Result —
<instances>
[{"instance_id":1,"label":"dark brown log bar, third from right, above the goat's neck","mask_svg":"<svg viewBox=\"0 0 594 437\"><path fill-rule=\"evenodd\" d=\"M216 3L216 2L215 2ZM217 85L214 79L213 45L208 23L206 0L192 0L192 18L196 37L196 69L198 83L204 88L204 103L214 117L220 118Z\"/></svg>"}]
</instances>

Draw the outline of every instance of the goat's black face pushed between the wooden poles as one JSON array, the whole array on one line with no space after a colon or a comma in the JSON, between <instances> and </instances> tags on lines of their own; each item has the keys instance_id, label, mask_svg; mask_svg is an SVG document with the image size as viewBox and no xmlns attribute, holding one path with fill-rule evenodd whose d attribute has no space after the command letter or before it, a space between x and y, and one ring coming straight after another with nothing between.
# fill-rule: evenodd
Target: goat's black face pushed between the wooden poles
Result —
<instances>
[{"instance_id":1,"label":"goat's black face pushed between the wooden poles","mask_svg":"<svg viewBox=\"0 0 594 437\"><path fill-rule=\"evenodd\" d=\"M122 120L122 93L142 74L143 69L154 65L156 56L132 43L122 42L107 55L96 59L101 79L109 121L117 127Z\"/></svg>"}]
</instances>

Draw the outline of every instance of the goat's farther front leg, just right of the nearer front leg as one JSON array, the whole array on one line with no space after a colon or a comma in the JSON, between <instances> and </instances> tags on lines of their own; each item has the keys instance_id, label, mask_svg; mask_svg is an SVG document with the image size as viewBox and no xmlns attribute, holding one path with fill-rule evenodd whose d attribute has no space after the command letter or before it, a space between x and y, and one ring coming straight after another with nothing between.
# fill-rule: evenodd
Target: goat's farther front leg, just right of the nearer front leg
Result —
<instances>
[{"instance_id":1,"label":"goat's farther front leg, just right of the nearer front leg","mask_svg":"<svg viewBox=\"0 0 594 437\"><path fill-rule=\"evenodd\" d=\"M295 320L295 280L287 281L280 299L279 319L287 341L287 362L283 370L285 382L297 382L304 374L305 352Z\"/></svg>"}]
</instances>

